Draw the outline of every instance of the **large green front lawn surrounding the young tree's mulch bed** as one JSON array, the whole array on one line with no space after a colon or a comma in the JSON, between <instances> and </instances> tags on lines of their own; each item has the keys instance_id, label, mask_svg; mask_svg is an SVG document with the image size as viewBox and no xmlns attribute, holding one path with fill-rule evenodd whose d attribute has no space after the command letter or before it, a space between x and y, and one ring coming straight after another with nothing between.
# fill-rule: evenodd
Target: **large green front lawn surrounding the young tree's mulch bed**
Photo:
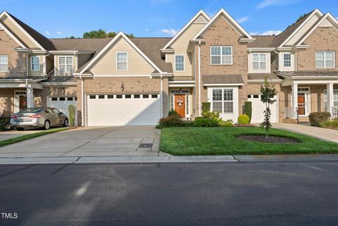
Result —
<instances>
[{"instance_id":1,"label":"large green front lawn surrounding the young tree's mulch bed","mask_svg":"<svg viewBox=\"0 0 338 226\"><path fill-rule=\"evenodd\" d=\"M271 135L292 137L296 144L269 144L237 139L240 134L264 134L259 127L169 127L161 133L161 151L174 156L338 153L338 144L284 130Z\"/></svg>"}]
</instances>

